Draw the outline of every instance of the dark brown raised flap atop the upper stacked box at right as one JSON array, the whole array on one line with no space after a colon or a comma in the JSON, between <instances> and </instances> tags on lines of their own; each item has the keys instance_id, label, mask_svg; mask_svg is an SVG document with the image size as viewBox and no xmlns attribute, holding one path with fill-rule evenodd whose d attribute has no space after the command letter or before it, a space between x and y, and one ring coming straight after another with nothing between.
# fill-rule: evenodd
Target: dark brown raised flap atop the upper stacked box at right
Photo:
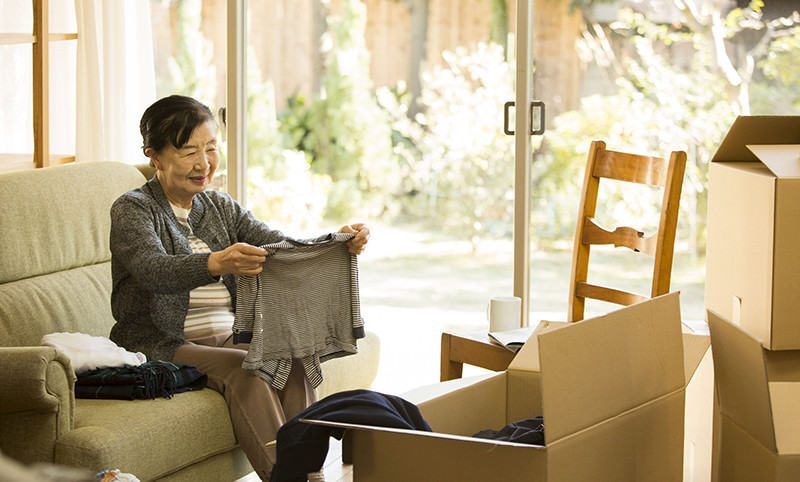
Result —
<instances>
[{"instance_id":1,"label":"dark brown raised flap atop the upper stacked box at right","mask_svg":"<svg viewBox=\"0 0 800 482\"><path fill-rule=\"evenodd\" d=\"M748 144L800 144L800 116L740 115L711 161L758 161Z\"/></svg>"}]
</instances>

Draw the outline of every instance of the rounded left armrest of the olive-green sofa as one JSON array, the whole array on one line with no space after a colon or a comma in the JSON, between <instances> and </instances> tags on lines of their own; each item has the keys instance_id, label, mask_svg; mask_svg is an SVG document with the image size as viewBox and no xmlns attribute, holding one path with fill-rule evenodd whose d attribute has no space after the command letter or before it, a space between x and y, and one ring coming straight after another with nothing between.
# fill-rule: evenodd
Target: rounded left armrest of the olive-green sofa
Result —
<instances>
[{"instance_id":1,"label":"rounded left armrest of the olive-green sofa","mask_svg":"<svg viewBox=\"0 0 800 482\"><path fill-rule=\"evenodd\" d=\"M75 372L47 346L0 347L0 450L26 464L52 462L72 429Z\"/></svg>"}]
</instances>

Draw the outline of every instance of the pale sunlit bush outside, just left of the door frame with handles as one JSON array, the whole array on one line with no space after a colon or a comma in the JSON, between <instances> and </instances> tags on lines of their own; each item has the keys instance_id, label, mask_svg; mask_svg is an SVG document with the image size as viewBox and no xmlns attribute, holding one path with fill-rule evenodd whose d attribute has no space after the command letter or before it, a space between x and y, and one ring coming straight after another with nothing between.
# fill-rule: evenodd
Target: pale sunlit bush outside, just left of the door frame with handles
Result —
<instances>
[{"instance_id":1,"label":"pale sunlit bush outside, just left of the door frame with handles","mask_svg":"<svg viewBox=\"0 0 800 482\"><path fill-rule=\"evenodd\" d=\"M503 104L513 98L513 68L502 46L443 53L444 67L422 75L415 123L395 116L395 153L407 170L406 213L473 239L507 235L513 208L513 139L503 134ZM407 141L413 144L409 148Z\"/></svg>"}]
</instances>

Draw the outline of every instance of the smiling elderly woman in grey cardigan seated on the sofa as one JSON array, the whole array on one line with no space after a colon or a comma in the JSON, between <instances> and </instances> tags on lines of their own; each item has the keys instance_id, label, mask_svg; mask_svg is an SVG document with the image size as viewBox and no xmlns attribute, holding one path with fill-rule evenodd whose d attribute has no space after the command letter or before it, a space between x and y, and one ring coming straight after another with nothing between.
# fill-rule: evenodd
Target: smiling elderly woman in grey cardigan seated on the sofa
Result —
<instances>
[{"instance_id":1,"label":"smiling elderly woman in grey cardigan seated on the sofa","mask_svg":"<svg viewBox=\"0 0 800 482\"><path fill-rule=\"evenodd\" d=\"M206 190L219 166L217 125L202 103L170 96L140 123L144 154L156 175L111 208L111 339L148 359L196 366L224 395L240 446L262 480L274 462L266 444L311 403L316 392L301 363L275 390L245 371L246 345L232 344L236 276L256 275L266 261L258 246L286 239L230 196ZM369 239L363 224L350 252Z\"/></svg>"}]
</instances>

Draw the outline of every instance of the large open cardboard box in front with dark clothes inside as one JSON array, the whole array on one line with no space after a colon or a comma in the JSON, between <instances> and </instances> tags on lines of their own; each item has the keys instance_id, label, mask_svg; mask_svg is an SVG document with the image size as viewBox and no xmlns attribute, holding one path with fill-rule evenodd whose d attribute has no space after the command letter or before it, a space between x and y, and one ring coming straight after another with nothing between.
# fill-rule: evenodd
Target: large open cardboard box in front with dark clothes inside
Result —
<instances>
[{"instance_id":1,"label":"large open cardboard box in front with dark clothes inside","mask_svg":"<svg viewBox=\"0 0 800 482\"><path fill-rule=\"evenodd\" d=\"M438 384L417 402L433 433L310 422L350 429L356 482L680 480L683 350L672 293L540 325L506 371ZM545 446L472 437L536 416Z\"/></svg>"}]
</instances>

